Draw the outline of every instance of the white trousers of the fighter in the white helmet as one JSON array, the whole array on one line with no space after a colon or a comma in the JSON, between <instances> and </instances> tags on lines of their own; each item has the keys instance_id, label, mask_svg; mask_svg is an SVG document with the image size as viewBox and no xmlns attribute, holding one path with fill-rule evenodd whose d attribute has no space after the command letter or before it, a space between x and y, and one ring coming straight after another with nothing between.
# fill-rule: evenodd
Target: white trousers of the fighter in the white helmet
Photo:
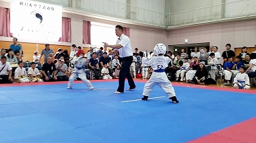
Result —
<instances>
[{"instance_id":1,"label":"white trousers of the fighter in the white helmet","mask_svg":"<svg viewBox=\"0 0 256 143\"><path fill-rule=\"evenodd\" d=\"M172 83L168 80L166 73L153 72L148 82L145 84L142 95L149 96L155 85L158 85L167 95L168 98L175 96Z\"/></svg>"}]
</instances>

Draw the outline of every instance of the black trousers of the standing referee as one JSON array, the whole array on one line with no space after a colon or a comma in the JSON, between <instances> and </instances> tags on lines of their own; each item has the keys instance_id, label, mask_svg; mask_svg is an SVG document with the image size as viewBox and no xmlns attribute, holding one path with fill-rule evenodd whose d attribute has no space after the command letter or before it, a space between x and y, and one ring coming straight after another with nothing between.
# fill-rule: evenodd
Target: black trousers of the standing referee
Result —
<instances>
[{"instance_id":1,"label":"black trousers of the standing referee","mask_svg":"<svg viewBox=\"0 0 256 143\"><path fill-rule=\"evenodd\" d=\"M121 93L123 93L125 89L125 78L127 78L128 80L130 86L129 89L134 89L136 87L130 73L130 66L132 62L133 56L127 56L125 58L122 58L122 66L119 73L119 87L117 89L117 91Z\"/></svg>"}]
</instances>

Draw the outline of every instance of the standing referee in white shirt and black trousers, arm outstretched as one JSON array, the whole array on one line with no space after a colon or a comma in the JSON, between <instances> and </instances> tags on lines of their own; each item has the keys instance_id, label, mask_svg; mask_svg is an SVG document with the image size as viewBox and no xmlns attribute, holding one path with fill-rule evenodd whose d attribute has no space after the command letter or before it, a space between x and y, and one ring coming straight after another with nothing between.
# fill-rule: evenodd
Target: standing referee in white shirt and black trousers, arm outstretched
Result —
<instances>
[{"instance_id":1,"label":"standing referee in white shirt and black trousers, arm outstretched","mask_svg":"<svg viewBox=\"0 0 256 143\"><path fill-rule=\"evenodd\" d=\"M115 32L116 35L119 36L117 44L108 45L104 42L104 46L113 48L115 51L112 52L112 54L119 52L119 56L122 58L122 67L119 73L119 87L117 88L117 91L115 91L115 94L120 94L123 93L125 89L125 77L127 78L130 86L127 91L135 89L136 86L130 74L130 66L133 62L133 50L131 50L130 38L123 34L122 26L116 26Z\"/></svg>"}]
</instances>

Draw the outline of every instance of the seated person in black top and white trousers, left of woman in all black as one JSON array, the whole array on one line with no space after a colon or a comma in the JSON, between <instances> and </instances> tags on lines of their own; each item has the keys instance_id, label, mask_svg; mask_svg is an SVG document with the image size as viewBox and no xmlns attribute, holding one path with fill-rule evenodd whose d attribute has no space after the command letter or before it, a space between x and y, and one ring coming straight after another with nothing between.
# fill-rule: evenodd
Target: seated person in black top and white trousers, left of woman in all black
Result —
<instances>
[{"instance_id":1,"label":"seated person in black top and white trousers, left of woman in all black","mask_svg":"<svg viewBox=\"0 0 256 143\"><path fill-rule=\"evenodd\" d=\"M195 73L197 72L197 68L199 67L199 60L197 56L193 58L190 62L191 69L187 71L186 73L186 83L192 83L192 79L195 76Z\"/></svg>"}]
</instances>

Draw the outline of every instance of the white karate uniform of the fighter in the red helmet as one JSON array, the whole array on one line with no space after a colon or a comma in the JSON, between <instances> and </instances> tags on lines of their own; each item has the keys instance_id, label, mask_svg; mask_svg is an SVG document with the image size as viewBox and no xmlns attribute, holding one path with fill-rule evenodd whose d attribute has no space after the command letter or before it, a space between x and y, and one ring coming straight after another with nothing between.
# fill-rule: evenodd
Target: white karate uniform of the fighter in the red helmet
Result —
<instances>
[{"instance_id":1,"label":"white karate uniform of the fighter in the red helmet","mask_svg":"<svg viewBox=\"0 0 256 143\"><path fill-rule=\"evenodd\" d=\"M86 58L83 58L82 56L75 56L73 58L73 71L71 76L69 77L69 83L67 84L68 87L73 86L73 81L75 81L76 77L79 77L86 86L90 87L90 89L93 89L92 83L86 78L86 70L84 70L84 65L86 64Z\"/></svg>"}]
</instances>

